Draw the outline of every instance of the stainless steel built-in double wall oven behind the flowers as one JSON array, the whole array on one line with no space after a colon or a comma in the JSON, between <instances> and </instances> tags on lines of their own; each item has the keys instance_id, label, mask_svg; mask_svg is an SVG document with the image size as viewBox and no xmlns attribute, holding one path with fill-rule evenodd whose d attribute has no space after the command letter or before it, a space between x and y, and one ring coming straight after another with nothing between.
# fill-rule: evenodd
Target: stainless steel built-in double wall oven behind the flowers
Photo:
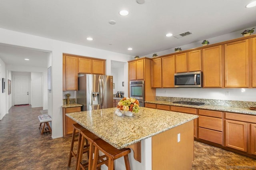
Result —
<instances>
[{"instance_id":1,"label":"stainless steel built-in double wall oven behind the flowers","mask_svg":"<svg viewBox=\"0 0 256 170\"><path fill-rule=\"evenodd\" d=\"M137 99L144 107L144 81L130 81L130 97Z\"/></svg>"}]
</instances>

